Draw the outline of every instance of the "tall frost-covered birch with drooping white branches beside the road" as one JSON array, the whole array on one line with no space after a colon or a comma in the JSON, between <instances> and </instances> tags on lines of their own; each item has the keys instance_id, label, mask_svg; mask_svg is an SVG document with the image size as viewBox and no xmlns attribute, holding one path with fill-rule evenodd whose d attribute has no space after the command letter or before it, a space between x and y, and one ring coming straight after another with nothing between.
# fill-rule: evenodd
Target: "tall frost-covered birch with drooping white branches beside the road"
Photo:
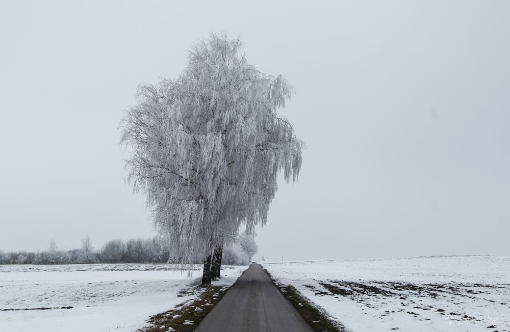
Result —
<instances>
[{"instance_id":1,"label":"tall frost-covered birch with drooping white branches beside the road","mask_svg":"<svg viewBox=\"0 0 510 332\"><path fill-rule=\"evenodd\" d=\"M179 77L139 87L121 122L133 149L127 179L145 193L171 259L205 259L203 283L214 248L241 225L266 224L278 174L294 182L301 167L302 142L276 113L293 88L249 65L241 46L225 34L195 45Z\"/></svg>"}]
</instances>

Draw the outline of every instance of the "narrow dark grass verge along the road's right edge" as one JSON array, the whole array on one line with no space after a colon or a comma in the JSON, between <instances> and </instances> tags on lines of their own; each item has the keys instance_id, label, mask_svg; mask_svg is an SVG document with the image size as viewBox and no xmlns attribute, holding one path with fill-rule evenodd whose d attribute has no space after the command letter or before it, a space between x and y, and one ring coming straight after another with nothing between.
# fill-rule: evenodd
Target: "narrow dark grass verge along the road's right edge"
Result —
<instances>
[{"instance_id":1,"label":"narrow dark grass verge along the road's right edge","mask_svg":"<svg viewBox=\"0 0 510 332\"><path fill-rule=\"evenodd\" d=\"M292 303L303 319L312 326L317 332L347 332L348 330L338 321L329 319L327 312L303 296L292 285L278 285L277 281L272 278L265 268L264 272L274 282L276 288Z\"/></svg>"}]
</instances>

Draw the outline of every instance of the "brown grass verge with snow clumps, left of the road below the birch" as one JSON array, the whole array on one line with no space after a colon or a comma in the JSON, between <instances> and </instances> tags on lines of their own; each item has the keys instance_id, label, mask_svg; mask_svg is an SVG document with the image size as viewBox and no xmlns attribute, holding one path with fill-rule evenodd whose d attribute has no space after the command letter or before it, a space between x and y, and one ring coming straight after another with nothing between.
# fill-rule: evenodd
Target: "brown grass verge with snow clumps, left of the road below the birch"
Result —
<instances>
[{"instance_id":1,"label":"brown grass verge with snow clumps, left of the road below the birch","mask_svg":"<svg viewBox=\"0 0 510 332\"><path fill-rule=\"evenodd\" d=\"M137 332L194 331L227 290L226 286L195 287L182 290L179 293L180 296L198 294L198 297L183 302L172 310L151 316L147 321L149 325L138 329Z\"/></svg>"}]
</instances>

